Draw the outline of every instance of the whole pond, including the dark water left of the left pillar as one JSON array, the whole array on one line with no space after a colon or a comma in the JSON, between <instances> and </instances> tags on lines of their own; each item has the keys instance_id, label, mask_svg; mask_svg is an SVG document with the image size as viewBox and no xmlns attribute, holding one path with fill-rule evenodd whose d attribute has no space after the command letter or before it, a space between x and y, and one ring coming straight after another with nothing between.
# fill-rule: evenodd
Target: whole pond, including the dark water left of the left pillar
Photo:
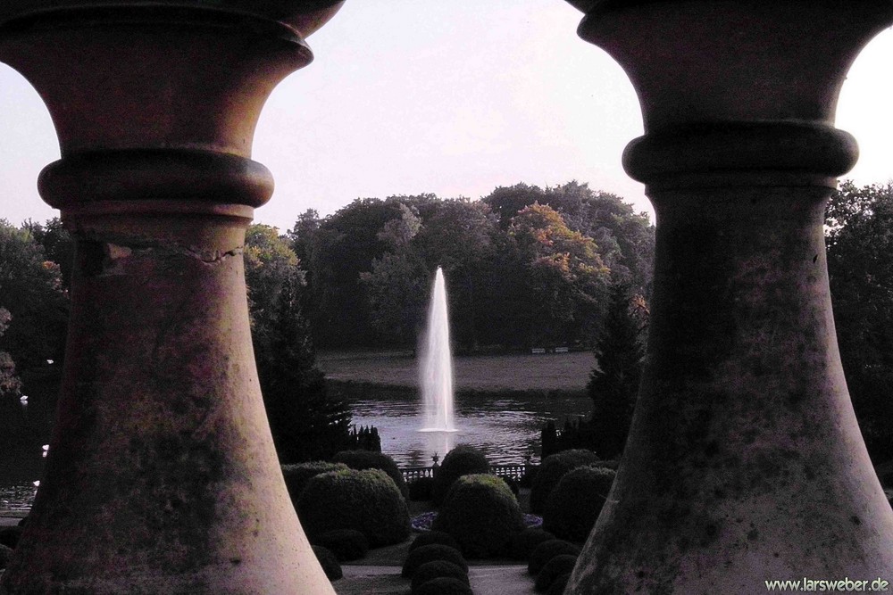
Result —
<instances>
[{"instance_id":1,"label":"whole pond, including the dark water left of the left pillar","mask_svg":"<svg viewBox=\"0 0 893 595\"><path fill-rule=\"evenodd\" d=\"M455 433L419 432L421 400L417 391L377 389L346 395L356 426L375 426L381 450L400 467L430 467L432 457L456 444L483 450L494 465L522 464L530 456L537 463L540 431L550 419L588 415L591 401L573 393L471 392L456 397ZM0 400L0 511L29 506L34 482L43 475L43 445L49 442L54 403L32 398Z\"/></svg>"}]
</instances>

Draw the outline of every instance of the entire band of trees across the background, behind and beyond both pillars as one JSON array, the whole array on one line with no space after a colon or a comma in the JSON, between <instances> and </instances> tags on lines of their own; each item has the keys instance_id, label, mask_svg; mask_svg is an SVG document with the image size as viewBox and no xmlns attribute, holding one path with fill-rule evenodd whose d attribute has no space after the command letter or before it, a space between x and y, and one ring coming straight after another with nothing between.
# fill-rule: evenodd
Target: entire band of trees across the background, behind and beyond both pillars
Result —
<instances>
[{"instance_id":1,"label":"entire band of trees across the background, behind and beyond both pillars","mask_svg":"<svg viewBox=\"0 0 893 595\"><path fill-rule=\"evenodd\" d=\"M893 459L893 186L843 183L825 228L840 355L879 463ZM573 182L497 188L477 202L357 200L325 219L306 212L286 236L252 226L245 260L255 355L285 459L318 453L289 451L281 436L315 444L314 433L343 436L349 424L343 403L325 393L312 335L326 347L413 345L438 265L460 346L586 343L601 362L589 386L593 420L626 426L638 370L624 362L640 355L632 337L647 319L653 245L646 216ZM58 219L21 227L0 219L0 396L58 374L72 253ZM607 398L613 392L622 393L617 402ZM614 438L616 447L622 436Z\"/></svg>"}]
</instances>

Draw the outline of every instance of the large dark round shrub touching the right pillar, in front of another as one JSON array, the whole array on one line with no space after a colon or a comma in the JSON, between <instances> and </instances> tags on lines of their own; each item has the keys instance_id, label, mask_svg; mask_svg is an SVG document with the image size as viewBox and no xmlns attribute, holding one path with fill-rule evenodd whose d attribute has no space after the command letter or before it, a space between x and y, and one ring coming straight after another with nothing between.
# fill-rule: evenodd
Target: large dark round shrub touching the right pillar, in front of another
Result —
<instances>
[{"instance_id":1,"label":"large dark round shrub touching the right pillar, in front of another","mask_svg":"<svg viewBox=\"0 0 893 595\"><path fill-rule=\"evenodd\" d=\"M577 467L564 474L549 494L543 528L567 541L586 541L596 524L614 475L604 467Z\"/></svg>"}]
</instances>

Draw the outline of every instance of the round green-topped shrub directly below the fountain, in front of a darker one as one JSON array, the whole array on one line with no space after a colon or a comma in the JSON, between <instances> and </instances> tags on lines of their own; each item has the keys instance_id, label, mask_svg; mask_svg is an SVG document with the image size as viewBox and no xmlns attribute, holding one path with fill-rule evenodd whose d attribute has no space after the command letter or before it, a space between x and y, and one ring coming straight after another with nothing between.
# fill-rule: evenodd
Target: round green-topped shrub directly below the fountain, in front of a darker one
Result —
<instances>
[{"instance_id":1,"label":"round green-topped shrub directly below the fountain, in front of a darker one","mask_svg":"<svg viewBox=\"0 0 893 595\"><path fill-rule=\"evenodd\" d=\"M512 534L524 528L524 515L496 475L463 475L453 483L431 528L455 537L468 558L490 558L505 553Z\"/></svg>"}]
</instances>

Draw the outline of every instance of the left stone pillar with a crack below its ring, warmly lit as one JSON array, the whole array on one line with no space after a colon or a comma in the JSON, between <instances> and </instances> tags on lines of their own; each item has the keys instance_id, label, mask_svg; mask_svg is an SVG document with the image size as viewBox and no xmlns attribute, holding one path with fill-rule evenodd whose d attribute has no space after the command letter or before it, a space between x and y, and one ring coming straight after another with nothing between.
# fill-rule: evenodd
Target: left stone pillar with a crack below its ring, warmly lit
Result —
<instances>
[{"instance_id":1,"label":"left stone pillar with a crack below its ring, warmly lit","mask_svg":"<svg viewBox=\"0 0 893 595\"><path fill-rule=\"evenodd\" d=\"M325 593L251 347L242 244L271 89L337 0L20 0L0 60L43 97L77 238L46 477L8 593Z\"/></svg>"}]
</instances>

